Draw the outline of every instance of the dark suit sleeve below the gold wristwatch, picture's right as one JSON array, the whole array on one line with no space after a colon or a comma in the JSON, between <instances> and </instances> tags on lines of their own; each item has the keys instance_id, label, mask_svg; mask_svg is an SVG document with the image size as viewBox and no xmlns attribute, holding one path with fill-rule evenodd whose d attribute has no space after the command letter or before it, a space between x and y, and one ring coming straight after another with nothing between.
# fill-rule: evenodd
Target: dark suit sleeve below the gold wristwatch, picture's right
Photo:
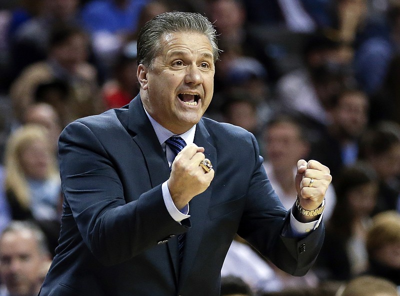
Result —
<instances>
[{"instance_id":1,"label":"dark suit sleeve below the gold wristwatch, picture's right","mask_svg":"<svg viewBox=\"0 0 400 296\"><path fill-rule=\"evenodd\" d=\"M294 276L303 276L311 268L322 246L323 224L305 238L286 235L290 211L286 213L271 187L253 136L252 143L254 170L238 235L279 269Z\"/></svg>"}]
</instances>

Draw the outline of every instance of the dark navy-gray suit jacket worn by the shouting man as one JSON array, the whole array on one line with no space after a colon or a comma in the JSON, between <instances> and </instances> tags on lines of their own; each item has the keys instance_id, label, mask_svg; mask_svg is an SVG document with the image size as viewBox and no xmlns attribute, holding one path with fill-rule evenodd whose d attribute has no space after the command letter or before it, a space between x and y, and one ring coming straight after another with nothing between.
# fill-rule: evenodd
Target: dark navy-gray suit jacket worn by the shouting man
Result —
<instances>
[{"instance_id":1,"label":"dark navy-gray suit jacket worn by the shouting man","mask_svg":"<svg viewBox=\"0 0 400 296\"><path fill-rule=\"evenodd\" d=\"M194 143L204 147L215 176L190 201L191 217L181 225L164 205L161 183L170 171L139 96L69 124L59 139L65 197L59 246L39 295L217 296L236 233L287 273L304 275L323 226L304 239L282 235L289 216L254 137L202 118ZM186 241L179 273L180 233Z\"/></svg>"}]
</instances>

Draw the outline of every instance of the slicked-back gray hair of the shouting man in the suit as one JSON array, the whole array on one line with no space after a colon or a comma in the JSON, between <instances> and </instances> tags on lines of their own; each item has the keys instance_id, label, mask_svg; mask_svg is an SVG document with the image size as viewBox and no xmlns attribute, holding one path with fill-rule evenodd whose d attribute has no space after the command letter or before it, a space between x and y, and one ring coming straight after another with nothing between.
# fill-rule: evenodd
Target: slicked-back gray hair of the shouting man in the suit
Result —
<instances>
[{"instance_id":1,"label":"slicked-back gray hair of the shouting man in the suit","mask_svg":"<svg viewBox=\"0 0 400 296\"><path fill-rule=\"evenodd\" d=\"M151 68L152 61L161 48L160 38L163 34L190 31L204 34L208 38L215 62L219 49L212 23L200 13L180 11L158 14L143 25L137 36L137 62Z\"/></svg>"}]
</instances>

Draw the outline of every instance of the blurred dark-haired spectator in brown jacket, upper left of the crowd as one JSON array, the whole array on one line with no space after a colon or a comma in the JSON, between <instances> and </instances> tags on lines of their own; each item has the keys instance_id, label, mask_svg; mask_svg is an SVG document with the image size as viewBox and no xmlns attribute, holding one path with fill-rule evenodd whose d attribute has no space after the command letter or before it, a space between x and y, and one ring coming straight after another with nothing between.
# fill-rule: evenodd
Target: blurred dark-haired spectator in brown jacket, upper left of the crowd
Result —
<instances>
[{"instance_id":1,"label":"blurred dark-haired spectator in brown jacket, upper left of the crowd","mask_svg":"<svg viewBox=\"0 0 400 296\"><path fill-rule=\"evenodd\" d=\"M62 81L68 90L64 102L66 114L59 114L63 125L102 111L104 108L98 94L96 71L87 62L87 53L88 40L84 31L68 25L55 27L50 37L47 59L25 68L11 85L10 97L16 119L22 121L27 106L34 101L36 88L41 83L55 79Z\"/></svg>"}]
</instances>

